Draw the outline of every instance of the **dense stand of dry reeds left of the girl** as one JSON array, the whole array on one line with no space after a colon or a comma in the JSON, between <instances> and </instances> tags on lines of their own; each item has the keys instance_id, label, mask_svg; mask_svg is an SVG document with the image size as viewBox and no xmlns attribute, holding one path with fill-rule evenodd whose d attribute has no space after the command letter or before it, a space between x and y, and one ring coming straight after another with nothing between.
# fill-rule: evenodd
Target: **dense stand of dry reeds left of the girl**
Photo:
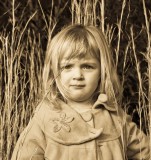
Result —
<instances>
[{"instance_id":1,"label":"dense stand of dry reeds left of the girl","mask_svg":"<svg viewBox=\"0 0 151 160\"><path fill-rule=\"evenodd\" d=\"M30 30L27 37L20 37L20 32L14 30L13 41L11 35L0 35L1 147L4 159L10 159L12 147L27 125L41 92L43 51L40 41ZM19 39L22 39L20 44Z\"/></svg>"}]
</instances>

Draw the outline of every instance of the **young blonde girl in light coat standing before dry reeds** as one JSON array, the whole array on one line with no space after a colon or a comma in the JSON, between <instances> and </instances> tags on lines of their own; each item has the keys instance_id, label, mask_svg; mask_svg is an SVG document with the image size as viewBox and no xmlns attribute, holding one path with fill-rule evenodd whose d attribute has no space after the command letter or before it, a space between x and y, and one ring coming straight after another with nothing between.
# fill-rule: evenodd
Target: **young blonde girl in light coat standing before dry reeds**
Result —
<instances>
[{"instance_id":1,"label":"young blonde girl in light coat standing before dry reeds","mask_svg":"<svg viewBox=\"0 0 151 160\"><path fill-rule=\"evenodd\" d=\"M12 160L147 160L149 140L119 107L121 88L103 33L71 25L49 42L45 96Z\"/></svg>"}]
</instances>

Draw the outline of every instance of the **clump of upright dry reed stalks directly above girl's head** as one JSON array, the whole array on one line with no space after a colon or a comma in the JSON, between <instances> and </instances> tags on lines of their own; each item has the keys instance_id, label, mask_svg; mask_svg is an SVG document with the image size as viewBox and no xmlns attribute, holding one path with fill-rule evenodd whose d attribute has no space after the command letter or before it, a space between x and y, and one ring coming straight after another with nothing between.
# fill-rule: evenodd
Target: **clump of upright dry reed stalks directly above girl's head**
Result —
<instances>
[{"instance_id":1,"label":"clump of upright dry reed stalks directly above girl's head","mask_svg":"<svg viewBox=\"0 0 151 160\"><path fill-rule=\"evenodd\" d=\"M104 0L73 0L71 4L72 24L95 25L101 23L104 32Z\"/></svg>"}]
</instances>

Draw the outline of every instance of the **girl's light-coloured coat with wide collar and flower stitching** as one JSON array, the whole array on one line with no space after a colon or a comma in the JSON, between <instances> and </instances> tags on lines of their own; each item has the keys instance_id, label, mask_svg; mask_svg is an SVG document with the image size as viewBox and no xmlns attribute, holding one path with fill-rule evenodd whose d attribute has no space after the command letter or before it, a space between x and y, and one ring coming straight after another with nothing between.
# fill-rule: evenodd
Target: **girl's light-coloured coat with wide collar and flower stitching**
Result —
<instances>
[{"instance_id":1,"label":"girl's light-coloured coat with wide collar and flower stitching","mask_svg":"<svg viewBox=\"0 0 151 160\"><path fill-rule=\"evenodd\" d=\"M130 116L99 98L91 111L82 114L64 102L55 109L44 100L12 156L12 160L125 159L149 159L149 139Z\"/></svg>"}]
</instances>

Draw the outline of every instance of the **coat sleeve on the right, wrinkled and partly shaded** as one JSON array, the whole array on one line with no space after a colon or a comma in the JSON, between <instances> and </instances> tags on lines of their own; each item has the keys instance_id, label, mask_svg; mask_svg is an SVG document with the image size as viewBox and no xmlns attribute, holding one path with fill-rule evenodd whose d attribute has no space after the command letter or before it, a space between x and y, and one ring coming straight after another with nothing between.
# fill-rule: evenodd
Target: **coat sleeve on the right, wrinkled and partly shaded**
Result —
<instances>
[{"instance_id":1,"label":"coat sleeve on the right, wrinkled and partly shaded","mask_svg":"<svg viewBox=\"0 0 151 160\"><path fill-rule=\"evenodd\" d=\"M127 157L129 159L149 160L149 137L137 128L129 115L126 115L126 139Z\"/></svg>"}]
</instances>

